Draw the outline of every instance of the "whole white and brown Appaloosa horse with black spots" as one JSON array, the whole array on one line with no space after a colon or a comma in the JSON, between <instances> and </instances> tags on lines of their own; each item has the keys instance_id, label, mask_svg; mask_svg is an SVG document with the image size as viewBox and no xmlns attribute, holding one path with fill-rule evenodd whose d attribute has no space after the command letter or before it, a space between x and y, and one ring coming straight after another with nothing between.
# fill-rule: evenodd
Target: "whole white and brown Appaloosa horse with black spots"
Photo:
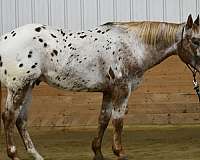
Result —
<instances>
[{"instance_id":1,"label":"whole white and brown Appaloosa horse with black spots","mask_svg":"<svg viewBox=\"0 0 200 160\"><path fill-rule=\"evenodd\" d=\"M35 84L40 81L67 91L103 92L97 136L92 142L94 160L103 160L101 143L110 118L113 120L113 151L126 160L121 134L123 116L131 91L143 74L171 55L200 68L199 16L186 23L106 23L82 32L65 32L29 24L0 39L0 81L8 95L2 114L8 156L18 160L14 125L24 145L36 160L36 151L26 129L27 107Z\"/></svg>"}]
</instances>

